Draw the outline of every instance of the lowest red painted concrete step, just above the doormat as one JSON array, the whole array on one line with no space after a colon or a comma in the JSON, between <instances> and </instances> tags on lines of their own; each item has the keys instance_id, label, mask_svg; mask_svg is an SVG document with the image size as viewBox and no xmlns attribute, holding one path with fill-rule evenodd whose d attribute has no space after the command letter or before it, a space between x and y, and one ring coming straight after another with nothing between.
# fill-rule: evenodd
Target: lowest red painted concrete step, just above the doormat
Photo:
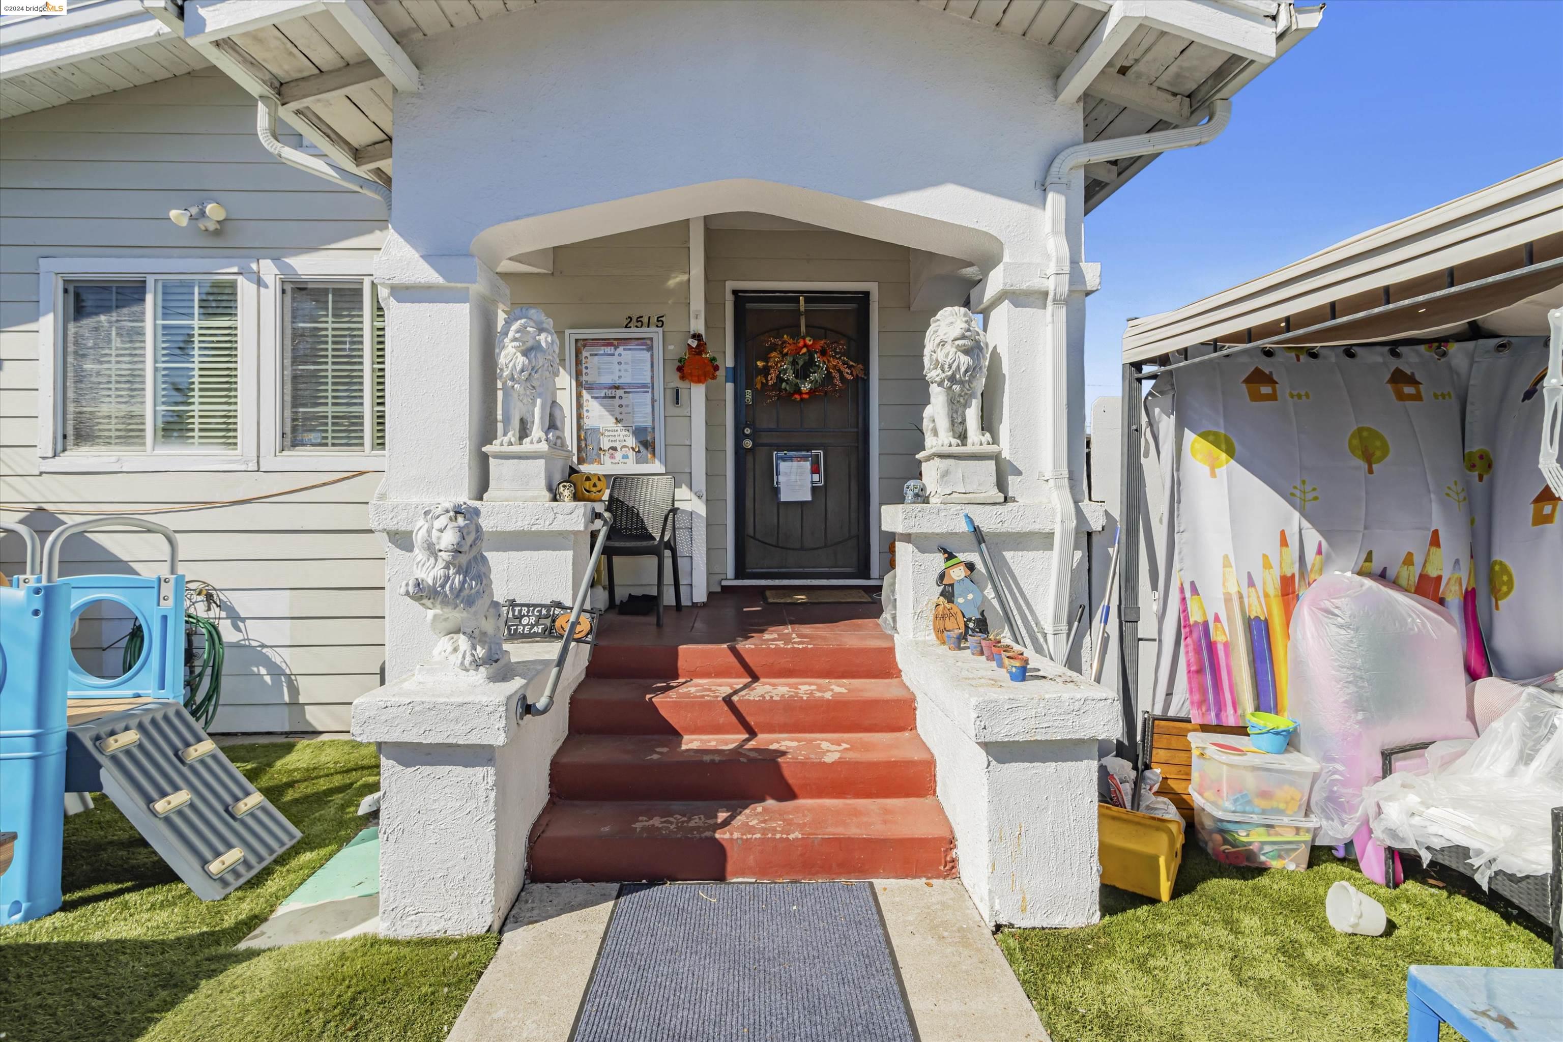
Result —
<instances>
[{"instance_id":1,"label":"lowest red painted concrete step, just above the doormat","mask_svg":"<svg viewBox=\"0 0 1563 1042\"><path fill-rule=\"evenodd\" d=\"M533 830L530 878L933 880L955 873L935 798L555 801Z\"/></svg>"}]
</instances>

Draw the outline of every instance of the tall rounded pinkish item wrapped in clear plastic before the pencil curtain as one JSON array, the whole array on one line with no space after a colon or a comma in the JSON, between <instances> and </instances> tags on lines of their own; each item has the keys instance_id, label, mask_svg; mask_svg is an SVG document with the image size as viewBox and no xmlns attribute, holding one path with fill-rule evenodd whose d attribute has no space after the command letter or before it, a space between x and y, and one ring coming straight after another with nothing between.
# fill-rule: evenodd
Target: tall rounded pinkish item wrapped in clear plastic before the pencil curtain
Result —
<instances>
[{"instance_id":1,"label":"tall rounded pinkish item wrapped in clear plastic before the pencil curtain","mask_svg":"<svg viewBox=\"0 0 1563 1042\"><path fill-rule=\"evenodd\" d=\"M1379 750L1475 737L1454 616L1396 586L1322 576L1297 601L1289 662L1288 712L1300 725L1293 745L1321 764L1310 801L1316 844L1343 844L1361 825Z\"/></svg>"}]
</instances>

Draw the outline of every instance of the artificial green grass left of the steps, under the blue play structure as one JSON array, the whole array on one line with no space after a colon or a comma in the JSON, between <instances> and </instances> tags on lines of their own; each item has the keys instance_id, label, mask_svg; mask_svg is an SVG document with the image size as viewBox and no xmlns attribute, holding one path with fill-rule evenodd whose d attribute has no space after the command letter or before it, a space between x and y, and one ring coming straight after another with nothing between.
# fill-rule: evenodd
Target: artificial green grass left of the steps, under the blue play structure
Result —
<instances>
[{"instance_id":1,"label":"artificial green grass left of the steps, under the blue play structure","mask_svg":"<svg viewBox=\"0 0 1563 1042\"><path fill-rule=\"evenodd\" d=\"M66 819L64 905L0 930L6 1042L438 1042L494 956L494 936L353 937L234 951L361 828L372 745L224 750L303 833L220 901L202 901L103 797Z\"/></svg>"}]
</instances>

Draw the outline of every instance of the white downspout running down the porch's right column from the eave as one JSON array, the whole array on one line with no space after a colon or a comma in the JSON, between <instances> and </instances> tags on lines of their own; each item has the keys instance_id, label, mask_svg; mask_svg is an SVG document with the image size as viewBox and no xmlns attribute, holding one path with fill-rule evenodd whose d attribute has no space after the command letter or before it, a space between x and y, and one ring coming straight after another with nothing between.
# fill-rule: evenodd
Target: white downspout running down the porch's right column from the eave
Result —
<instances>
[{"instance_id":1,"label":"white downspout running down the porch's right column from the eave","mask_svg":"<svg viewBox=\"0 0 1563 1042\"><path fill-rule=\"evenodd\" d=\"M1193 148L1214 139L1232 120L1232 102L1221 98L1210 103L1210 117L1197 127L1180 127L1153 134L1113 137L1086 142L1060 152L1047 167L1047 198L1043 209L1047 242L1047 347L1052 367L1053 394L1060 395L1069 386L1069 272L1074 261L1069 256L1068 205L1069 186L1088 162L1147 156L1172 148ZM1130 403L1124 403L1125 422ZM1069 489L1069 411L1055 408L1050 417L1050 458L1043 478L1052 491L1053 509L1058 514L1053 530L1053 575L1047 620L1043 623L1043 639L1047 655L1060 666L1069 655L1064 647L1069 633L1069 589L1074 576L1075 500Z\"/></svg>"}]
</instances>

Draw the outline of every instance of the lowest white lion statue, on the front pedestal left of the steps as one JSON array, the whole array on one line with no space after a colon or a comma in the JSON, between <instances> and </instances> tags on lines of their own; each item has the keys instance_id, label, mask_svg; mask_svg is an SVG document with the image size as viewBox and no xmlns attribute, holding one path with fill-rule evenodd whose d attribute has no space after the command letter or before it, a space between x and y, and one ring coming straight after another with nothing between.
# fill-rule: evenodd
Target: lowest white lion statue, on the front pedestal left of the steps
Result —
<instances>
[{"instance_id":1,"label":"lowest white lion statue, on the front pedestal left of the steps","mask_svg":"<svg viewBox=\"0 0 1563 1042\"><path fill-rule=\"evenodd\" d=\"M439 637L430 658L472 672L505 653L480 516L472 503L427 508L413 530L413 578L400 587L402 597L428 609Z\"/></svg>"}]
</instances>

